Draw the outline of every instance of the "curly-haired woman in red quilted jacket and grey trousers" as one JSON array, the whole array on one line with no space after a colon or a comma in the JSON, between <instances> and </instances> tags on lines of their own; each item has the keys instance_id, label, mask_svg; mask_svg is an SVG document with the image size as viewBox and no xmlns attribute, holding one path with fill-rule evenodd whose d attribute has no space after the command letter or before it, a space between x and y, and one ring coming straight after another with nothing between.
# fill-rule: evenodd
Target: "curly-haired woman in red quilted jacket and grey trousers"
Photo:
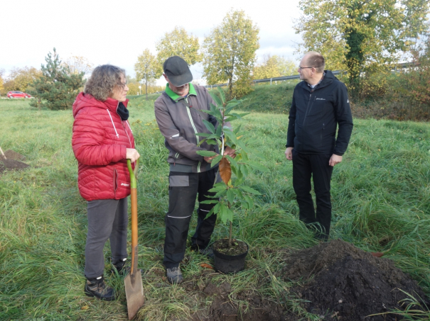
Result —
<instances>
[{"instance_id":1,"label":"curly-haired woman in red quilted jacket and grey trousers","mask_svg":"<svg viewBox=\"0 0 430 321\"><path fill-rule=\"evenodd\" d=\"M124 272L127 259L127 159L135 162L139 158L127 120L128 90L124 69L104 64L94 69L84 92L73 103L77 184L80 195L87 200L85 294L102 300L115 298L114 290L103 279L107 239L118 272Z\"/></svg>"}]
</instances>

